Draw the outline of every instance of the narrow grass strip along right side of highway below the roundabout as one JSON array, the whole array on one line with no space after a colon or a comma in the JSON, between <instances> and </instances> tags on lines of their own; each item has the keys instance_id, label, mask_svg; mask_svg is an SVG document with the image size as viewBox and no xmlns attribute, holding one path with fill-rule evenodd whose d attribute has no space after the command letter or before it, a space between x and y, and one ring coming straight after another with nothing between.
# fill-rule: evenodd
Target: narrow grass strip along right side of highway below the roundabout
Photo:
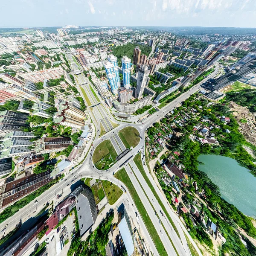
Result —
<instances>
[{"instance_id":1,"label":"narrow grass strip along right side of highway below the roundabout","mask_svg":"<svg viewBox=\"0 0 256 256\"><path fill-rule=\"evenodd\" d=\"M148 184L149 188L151 189L155 198L157 199L158 203L160 204L160 207L163 209L164 213L166 214L166 217L168 218L168 220L172 224L172 227L174 228L175 232L177 233L177 236L180 238L180 234L177 230L177 227L175 226L174 222L172 221L172 218L170 217L169 213L167 212L166 208L164 207L163 202L160 200L159 196L157 195L157 192L154 189L154 186L152 185L152 183L150 182L150 180L148 178L148 175L145 173L145 170L143 168L143 164L142 164L142 161L141 161L141 154L140 153L138 153L134 157L134 163L137 165L138 169L140 170L140 173L142 174L143 178L145 179L146 183Z\"/></svg>"}]
</instances>

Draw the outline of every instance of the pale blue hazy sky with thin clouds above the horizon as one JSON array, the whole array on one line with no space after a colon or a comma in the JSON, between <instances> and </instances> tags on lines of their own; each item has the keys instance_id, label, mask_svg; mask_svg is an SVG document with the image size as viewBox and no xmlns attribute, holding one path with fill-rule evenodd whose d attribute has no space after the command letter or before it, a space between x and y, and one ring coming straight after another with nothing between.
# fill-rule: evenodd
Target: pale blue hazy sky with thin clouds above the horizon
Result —
<instances>
[{"instance_id":1,"label":"pale blue hazy sky with thin clouds above the horizon","mask_svg":"<svg viewBox=\"0 0 256 256\"><path fill-rule=\"evenodd\" d=\"M0 27L256 27L256 0L1 0Z\"/></svg>"}]
</instances>

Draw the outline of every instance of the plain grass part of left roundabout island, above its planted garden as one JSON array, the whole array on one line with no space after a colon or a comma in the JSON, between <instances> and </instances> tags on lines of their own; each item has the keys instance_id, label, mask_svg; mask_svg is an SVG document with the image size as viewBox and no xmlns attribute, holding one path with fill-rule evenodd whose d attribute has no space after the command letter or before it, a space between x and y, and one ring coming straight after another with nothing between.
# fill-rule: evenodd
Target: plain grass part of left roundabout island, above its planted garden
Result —
<instances>
[{"instance_id":1,"label":"plain grass part of left roundabout island, above its planted garden","mask_svg":"<svg viewBox=\"0 0 256 256\"><path fill-rule=\"evenodd\" d=\"M97 163L107 154L111 154L113 160L116 159L117 154L110 140L104 140L100 143L93 153L93 163Z\"/></svg>"}]
</instances>

